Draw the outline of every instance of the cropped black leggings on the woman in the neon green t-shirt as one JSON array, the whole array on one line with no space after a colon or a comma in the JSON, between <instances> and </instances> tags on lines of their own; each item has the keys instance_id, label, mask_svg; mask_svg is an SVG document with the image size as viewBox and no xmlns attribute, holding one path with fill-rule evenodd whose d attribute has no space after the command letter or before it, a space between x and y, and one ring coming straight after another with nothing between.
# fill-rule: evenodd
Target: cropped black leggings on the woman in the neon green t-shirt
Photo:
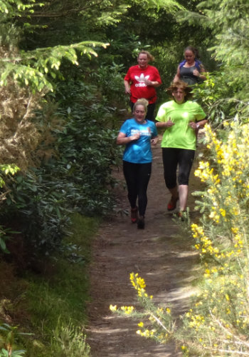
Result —
<instances>
[{"instance_id":1,"label":"cropped black leggings on the woman in the neon green t-shirt","mask_svg":"<svg viewBox=\"0 0 249 357\"><path fill-rule=\"evenodd\" d=\"M194 154L194 150L162 148L164 180L167 188L171 189L176 187L177 165L179 165L178 184L189 184L189 174L194 161Z\"/></svg>"}]
</instances>

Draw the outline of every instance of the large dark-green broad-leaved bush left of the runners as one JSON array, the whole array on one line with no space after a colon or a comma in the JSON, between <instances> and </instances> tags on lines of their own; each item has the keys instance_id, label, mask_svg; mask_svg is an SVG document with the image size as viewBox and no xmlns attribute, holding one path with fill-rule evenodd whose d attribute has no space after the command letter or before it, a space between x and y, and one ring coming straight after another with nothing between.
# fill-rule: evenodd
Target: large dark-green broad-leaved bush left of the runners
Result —
<instances>
[{"instance_id":1,"label":"large dark-green broad-leaved bush left of the runners","mask_svg":"<svg viewBox=\"0 0 249 357\"><path fill-rule=\"evenodd\" d=\"M106 79L96 78L102 81L100 91ZM48 112L36 112L36 121L44 129L48 117L53 119L46 129L51 131L50 139L44 140L33 156L50 156L40 168L8 181L10 192L0 214L3 225L16 222L14 228L21 232L31 251L31 247L43 253L58 248L67 233L71 211L88 216L112 211L112 167L117 165L120 149L115 144L117 132L113 127L115 113L120 116L122 111L107 106L106 97L96 92L95 85L69 80L58 86L57 108L49 105L48 97ZM60 125L53 124L56 118Z\"/></svg>"}]
</instances>

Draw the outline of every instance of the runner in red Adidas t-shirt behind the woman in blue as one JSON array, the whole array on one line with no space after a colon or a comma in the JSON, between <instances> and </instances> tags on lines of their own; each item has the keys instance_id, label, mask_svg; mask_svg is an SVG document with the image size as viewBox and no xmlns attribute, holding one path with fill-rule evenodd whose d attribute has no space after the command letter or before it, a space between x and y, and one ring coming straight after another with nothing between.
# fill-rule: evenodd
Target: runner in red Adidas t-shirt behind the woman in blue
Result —
<instances>
[{"instance_id":1,"label":"runner in red Adidas t-shirt behind the woman in blue","mask_svg":"<svg viewBox=\"0 0 249 357\"><path fill-rule=\"evenodd\" d=\"M148 51L141 51L137 56L138 64L129 67L124 77L125 93L130 96L130 107L133 111L137 99L145 98L149 101L146 119L154 120L154 109L157 101L156 88L161 86L159 71L154 66L149 66L149 61L154 57Z\"/></svg>"}]
</instances>

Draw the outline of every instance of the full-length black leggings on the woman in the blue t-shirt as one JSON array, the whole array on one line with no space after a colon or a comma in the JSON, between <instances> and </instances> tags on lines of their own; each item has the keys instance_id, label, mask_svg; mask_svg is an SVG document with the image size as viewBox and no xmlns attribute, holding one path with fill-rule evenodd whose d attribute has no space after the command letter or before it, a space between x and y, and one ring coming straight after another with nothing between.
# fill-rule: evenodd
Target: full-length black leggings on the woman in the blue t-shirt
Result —
<instances>
[{"instance_id":1,"label":"full-length black leggings on the woman in the blue t-shirt","mask_svg":"<svg viewBox=\"0 0 249 357\"><path fill-rule=\"evenodd\" d=\"M137 204L139 216L144 216L147 207L147 187L152 174L152 163L133 164L123 161L124 178L127 183L128 199L131 208Z\"/></svg>"}]
</instances>

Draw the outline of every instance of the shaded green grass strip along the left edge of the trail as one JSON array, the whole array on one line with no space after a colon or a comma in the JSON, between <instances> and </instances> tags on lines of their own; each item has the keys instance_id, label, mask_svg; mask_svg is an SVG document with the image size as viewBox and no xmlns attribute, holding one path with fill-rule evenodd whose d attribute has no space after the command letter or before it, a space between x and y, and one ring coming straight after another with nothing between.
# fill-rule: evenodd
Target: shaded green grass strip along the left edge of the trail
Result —
<instances>
[{"instance_id":1,"label":"shaded green grass strip along the left edge of the trail","mask_svg":"<svg viewBox=\"0 0 249 357\"><path fill-rule=\"evenodd\" d=\"M46 263L45 273L26 272L21 278L26 293L18 306L23 316L17 323L21 331L33 333L21 341L27 357L87 357L90 353L84 335L88 263L100 221L80 214L74 214L72 221L72 234Z\"/></svg>"}]
</instances>

